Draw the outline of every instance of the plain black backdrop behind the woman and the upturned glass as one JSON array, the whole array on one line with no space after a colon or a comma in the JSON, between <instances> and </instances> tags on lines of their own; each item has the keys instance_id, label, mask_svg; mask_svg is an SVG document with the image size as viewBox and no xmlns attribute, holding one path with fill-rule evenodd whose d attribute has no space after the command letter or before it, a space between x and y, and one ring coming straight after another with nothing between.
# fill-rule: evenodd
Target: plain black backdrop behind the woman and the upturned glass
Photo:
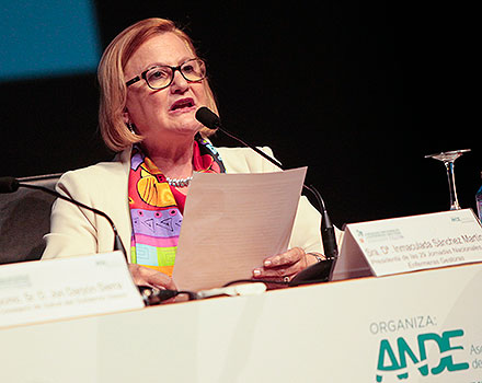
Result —
<instances>
[{"instance_id":1,"label":"plain black backdrop behind the woman and the upturned glass","mask_svg":"<svg viewBox=\"0 0 482 383\"><path fill-rule=\"evenodd\" d=\"M471 5L99 0L95 8L103 48L145 18L184 27L208 62L225 126L272 147L287 167L307 165L338 227L447 210L444 165L424 159L444 150L472 149L457 161L456 178L460 204L474 208L482 166ZM97 134L95 73L0 83L0 175L112 158Z\"/></svg>"}]
</instances>

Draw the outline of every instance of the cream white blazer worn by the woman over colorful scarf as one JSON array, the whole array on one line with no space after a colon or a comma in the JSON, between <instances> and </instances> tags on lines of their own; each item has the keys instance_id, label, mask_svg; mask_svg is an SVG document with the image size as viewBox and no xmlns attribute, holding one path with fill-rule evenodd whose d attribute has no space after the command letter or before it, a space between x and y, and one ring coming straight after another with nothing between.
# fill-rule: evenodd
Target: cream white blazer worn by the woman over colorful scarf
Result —
<instances>
[{"instance_id":1,"label":"cream white blazer worn by the woman over colorful scarf","mask_svg":"<svg viewBox=\"0 0 482 383\"><path fill-rule=\"evenodd\" d=\"M262 148L272 155L269 148ZM227 173L263 173L278 171L271 162L248 148L218 148ZM130 256L130 211L127 183L130 150L119 153L113 162L65 173L57 190L66 196L105 212L116 225L120 240ZM322 253L320 213L306 197L301 197L289 248ZM44 236L43 258L105 253L113 249L114 234L105 218L58 199L53 206L50 233ZM266 256L274 254L266 254Z\"/></svg>"}]
</instances>

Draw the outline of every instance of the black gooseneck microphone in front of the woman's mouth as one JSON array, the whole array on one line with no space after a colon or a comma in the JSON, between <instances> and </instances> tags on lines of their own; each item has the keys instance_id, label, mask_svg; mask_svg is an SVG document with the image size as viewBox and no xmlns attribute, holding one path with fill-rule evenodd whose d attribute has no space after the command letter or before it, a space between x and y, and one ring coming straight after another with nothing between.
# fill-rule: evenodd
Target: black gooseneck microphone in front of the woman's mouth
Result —
<instances>
[{"instance_id":1,"label":"black gooseneck microphone in front of the woman's mouth","mask_svg":"<svg viewBox=\"0 0 482 383\"><path fill-rule=\"evenodd\" d=\"M206 106L202 106L196 112L196 119L203 124L205 127L213 129L213 130L219 130L227 135L228 137L234 139L236 141L240 142L246 148L250 148L254 150L257 154L262 155L264 159L279 167L280 170L284 170L283 165L273 159L272 156L267 155L256 147L245 142L241 138L237 137L232 132L226 130L222 125L219 117L211 112ZM317 282L324 282L330 280L331 272L333 270L334 263L336 262L336 258L338 257L338 246L336 244L336 236L333 223L329 217L326 207L324 205L324 200L321 197L321 194L312 186L307 186L303 184L303 188L314 195L317 198L317 201L320 206L321 210L321 239L323 243L323 251L324 256L326 260L319 262L310 267L307 267L305 270L298 272L295 278L292 278L288 286L299 286L299 285L308 285L308 283L317 283Z\"/></svg>"}]
</instances>

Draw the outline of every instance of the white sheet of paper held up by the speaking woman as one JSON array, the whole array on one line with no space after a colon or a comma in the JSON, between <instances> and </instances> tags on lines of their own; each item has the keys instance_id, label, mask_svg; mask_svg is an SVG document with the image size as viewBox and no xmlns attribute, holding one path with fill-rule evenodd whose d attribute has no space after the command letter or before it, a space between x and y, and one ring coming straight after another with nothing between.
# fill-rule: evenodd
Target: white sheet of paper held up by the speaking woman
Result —
<instances>
[{"instance_id":1,"label":"white sheet of paper held up by the speaking woman","mask_svg":"<svg viewBox=\"0 0 482 383\"><path fill-rule=\"evenodd\" d=\"M195 174L175 257L177 288L252 278L265 257L285 252L306 172Z\"/></svg>"}]
</instances>

